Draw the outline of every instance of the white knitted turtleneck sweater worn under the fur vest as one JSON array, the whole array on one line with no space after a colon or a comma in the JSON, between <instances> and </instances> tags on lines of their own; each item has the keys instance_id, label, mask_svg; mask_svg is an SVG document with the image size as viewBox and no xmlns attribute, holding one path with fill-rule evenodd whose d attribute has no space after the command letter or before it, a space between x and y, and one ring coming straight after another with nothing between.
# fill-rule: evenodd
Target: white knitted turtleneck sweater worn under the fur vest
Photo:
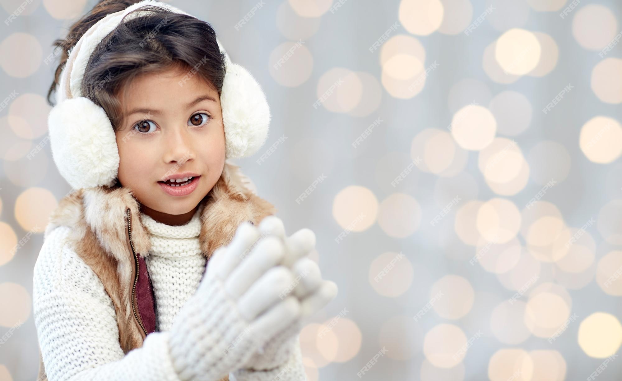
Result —
<instances>
[{"instance_id":1,"label":"white knitted turtleneck sweater worn under the fur vest","mask_svg":"<svg viewBox=\"0 0 622 381\"><path fill-rule=\"evenodd\" d=\"M146 264L156 297L158 332L126 355L119 346L114 306L103 283L67 245L70 228L57 227L49 234L33 278L35 326L49 381L180 381L169 353L169 329L197 290L205 269L198 239L199 212L183 226L141 215L152 234ZM281 367L230 372L231 381L305 379L299 346Z\"/></svg>"}]
</instances>

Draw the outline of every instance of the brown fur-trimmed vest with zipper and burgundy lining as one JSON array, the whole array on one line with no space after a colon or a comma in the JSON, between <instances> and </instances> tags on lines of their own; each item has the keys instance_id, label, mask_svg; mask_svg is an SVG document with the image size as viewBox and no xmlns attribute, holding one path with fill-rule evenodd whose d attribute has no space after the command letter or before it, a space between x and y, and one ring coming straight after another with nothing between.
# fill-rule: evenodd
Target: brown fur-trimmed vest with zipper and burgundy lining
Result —
<instances>
[{"instance_id":1,"label":"brown fur-trimmed vest with zipper and burgundy lining","mask_svg":"<svg viewBox=\"0 0 622 381\"><path fill-rule=\"evenodd\" d=\"M223 173L200 201L203 255L228 244L239 224L253 224L276 209L248 187L239 167L225 162ZM58 202L44 237L58 226L72 228L70 245L100 278L110 296L124 353L142 346L147 334L156 330L156 305L145 257L151 237L142 226L139 204L128 188L83 188ZM228 380L225 377L223 380ZM47 381L39 351L37 381Z\"/></svg>"}]
</instances>

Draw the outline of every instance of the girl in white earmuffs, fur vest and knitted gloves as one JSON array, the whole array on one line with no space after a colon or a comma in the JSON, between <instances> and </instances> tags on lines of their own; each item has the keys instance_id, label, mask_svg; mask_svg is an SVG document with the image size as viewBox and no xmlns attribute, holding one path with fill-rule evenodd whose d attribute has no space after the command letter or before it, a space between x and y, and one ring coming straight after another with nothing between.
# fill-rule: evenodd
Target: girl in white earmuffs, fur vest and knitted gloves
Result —
<instances>
[{"instance_id":1,"label":"girl in white earmuffs, fur vest and knitted gloves","mask_svg":"<svg viewBox=\"0 0 622 381\"><path fill-rule=\"evenodd\" d=\"M34 269L39 380L304 380L302 318L337 287L225 160L266 138L259 85L152 0L104 0L55 45L50 146L75 191Z\"/></svg>"}]
</instances>

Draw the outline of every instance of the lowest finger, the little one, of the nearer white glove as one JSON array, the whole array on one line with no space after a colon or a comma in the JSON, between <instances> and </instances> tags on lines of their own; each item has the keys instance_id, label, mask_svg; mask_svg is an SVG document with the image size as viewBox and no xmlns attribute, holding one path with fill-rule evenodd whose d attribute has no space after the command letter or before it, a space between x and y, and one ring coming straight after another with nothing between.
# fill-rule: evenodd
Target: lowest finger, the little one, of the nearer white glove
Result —
<instances>
[{"instance_id":1,"label":"lowest finger, the little one, of the nearer white glove","mask_svg":"<svg viewBox=\"0 0 622 381\"><path fill-rule=\"evenodd\" d=\"M262 344L300 318L300 302L294 296L287 296L261 314L251 323L251 329L261 334Z\"/></svg>"}]
</instances>

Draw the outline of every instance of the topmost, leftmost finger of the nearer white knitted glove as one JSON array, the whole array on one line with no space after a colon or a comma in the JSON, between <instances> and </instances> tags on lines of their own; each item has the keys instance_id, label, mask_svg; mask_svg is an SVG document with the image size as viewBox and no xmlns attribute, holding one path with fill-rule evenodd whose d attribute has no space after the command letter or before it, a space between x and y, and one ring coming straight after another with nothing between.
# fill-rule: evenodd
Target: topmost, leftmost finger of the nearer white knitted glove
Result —
<instances>
[{"instance_id":1,"label":"topmost, leftmost finger of the nearer white knitted glove","mask_svg":"<svg viewBox=\"0 0 622 381\"><path fill-rule=\"evenodd\" d=\"M259 231L248 221L239 224L235 236L230 244L226 246L226 252L219 253L214 257L211 264L213 272L221 279L226 279L231 271L238 266L239 262L248 254L248 250L252 249L252 245L259 237Z\"/></svg>"}]
</instances>

